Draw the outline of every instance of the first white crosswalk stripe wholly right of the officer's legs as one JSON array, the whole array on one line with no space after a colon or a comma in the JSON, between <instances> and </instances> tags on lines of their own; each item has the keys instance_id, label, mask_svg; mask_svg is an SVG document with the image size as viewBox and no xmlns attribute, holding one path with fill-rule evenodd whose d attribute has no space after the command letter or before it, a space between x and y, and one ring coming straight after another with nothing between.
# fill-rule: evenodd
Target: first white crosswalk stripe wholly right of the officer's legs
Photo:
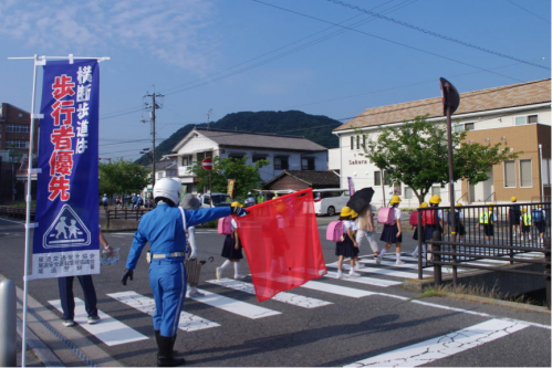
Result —
<instances>
[{"instance_id":1,"label":"first white crosswalk stripe wholly right of the officer's legs","mask_svg":"<svg viewBox=\"0 0 552 368\"><path fill-rule=\"evenodd\" d=\"M205 296L194 296L190 298L192 298L196 302L205 303L207 305L223 309L226 312L237 314L242 317L257 319L257 318L264 318L281 314L280 312L277 311L271 311L269 308L264 308L258 305L236 301L223 295L218 295L215 293L207 292L205 290L198 288L198 292L205 294Z\"/></svg>"}]
</instances>

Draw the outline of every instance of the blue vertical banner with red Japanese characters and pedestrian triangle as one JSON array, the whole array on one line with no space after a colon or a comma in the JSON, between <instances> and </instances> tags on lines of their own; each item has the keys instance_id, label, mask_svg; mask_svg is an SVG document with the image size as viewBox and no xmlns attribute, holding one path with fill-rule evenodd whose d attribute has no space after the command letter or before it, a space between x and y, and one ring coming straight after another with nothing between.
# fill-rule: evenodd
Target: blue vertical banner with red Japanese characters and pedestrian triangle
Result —
<instances>
[{"instance_id":1,"label":"blue vertical banner with red Japanese characters and pedestrian triangle","mask_svg":"<svg viewBox=\"0 0 552 368\"><path fill-rule=\"evenodd\" d=\"M31 278L97 274L98 63L43 69Z\"/></svg>"}]
</instances>

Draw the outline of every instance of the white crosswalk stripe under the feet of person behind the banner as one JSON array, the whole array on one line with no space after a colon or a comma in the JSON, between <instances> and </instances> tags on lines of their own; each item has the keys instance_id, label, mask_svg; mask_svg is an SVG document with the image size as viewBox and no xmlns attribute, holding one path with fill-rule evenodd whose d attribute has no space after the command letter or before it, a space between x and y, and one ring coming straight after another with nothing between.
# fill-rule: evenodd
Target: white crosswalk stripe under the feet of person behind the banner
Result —
<instances>
[{"instance_id":1,"label":"white crosswalk stripe under the feet of person behind the banner","mask_svg":"<svg viewBox=\"0 0 552 368\"><path fill-rule=\"evenodd\" d=\"M49 301L53 307L63 313L61 307L61 301ZM111 317L110 315L97 311L100 316L100 323L95 325L87 324L87 313L84 307L84 302L75 297L75 317L74 322L77 323L82 328L86 329L90 334L97 337L107 346L115 346L121 344L128 344L133 341L139 341L148 339L147 336L142 335L132 327L128 327L122 322Z\"/></svg>"}]
</instances>

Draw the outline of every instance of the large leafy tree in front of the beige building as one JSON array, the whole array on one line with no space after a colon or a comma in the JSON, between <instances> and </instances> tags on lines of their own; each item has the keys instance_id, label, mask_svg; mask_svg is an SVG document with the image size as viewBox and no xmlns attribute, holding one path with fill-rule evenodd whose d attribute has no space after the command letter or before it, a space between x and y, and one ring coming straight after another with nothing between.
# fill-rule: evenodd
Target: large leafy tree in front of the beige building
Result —
<instances>
[{"instance_id":1,"label":"large leafy tree in front of the beige building","mask_svg":"<svg viewBox=\"0 0 552 368\"><path fill-rule=\"evenodd\" d=\"M428 123L426 116L404 122L399 127L384 128L376 139L369 139L363 156L385 171L386 179L410 187L419 202L448 177L447 129L445 125ZM361 133L358 133L361 134ZM452 133L454 180L466 179L471 185L487 180L489 169L507 159L517 158L501 144L481 145L465 141L466 132Z\"/></svg>"}]
</instances>

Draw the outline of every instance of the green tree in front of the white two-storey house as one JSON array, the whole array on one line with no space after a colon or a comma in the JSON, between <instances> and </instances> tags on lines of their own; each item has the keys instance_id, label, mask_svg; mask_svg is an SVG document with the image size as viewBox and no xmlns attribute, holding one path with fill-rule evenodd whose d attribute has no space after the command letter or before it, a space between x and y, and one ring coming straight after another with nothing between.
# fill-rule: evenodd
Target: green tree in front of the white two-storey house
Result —
<instances>
[{"instance_id":1,"label":"green tree in front of the white two-storey house","mask_svg":"<svg viewBox=\"0 0 552 368\"><path fill-rule=\"evenodd\" d=\"M247 165L247 157L243 158L220 158L212 159L211 191L226 192L228 179L235 179L233 198L244 198L251 189L259 188L262 179L259 169L269 165L268 160L258 160L253 165ZM198 188L209 188L209 171L201 168L201 162L196 162L191 171L197 176Z\"/></svg>"}]
</instances>

